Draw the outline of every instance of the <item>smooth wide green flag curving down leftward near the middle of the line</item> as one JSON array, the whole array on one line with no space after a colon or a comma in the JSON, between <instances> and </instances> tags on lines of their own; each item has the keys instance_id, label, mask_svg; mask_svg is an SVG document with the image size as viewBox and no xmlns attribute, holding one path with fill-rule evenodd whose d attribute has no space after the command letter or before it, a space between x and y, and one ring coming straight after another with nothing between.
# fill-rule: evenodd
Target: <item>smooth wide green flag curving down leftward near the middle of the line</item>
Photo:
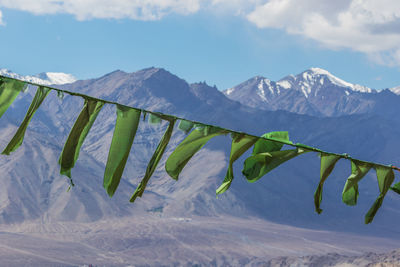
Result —
<instances>
[{"instance_id":1,"label":"smooth wide green flag curving down leftward near the middle of the line","mask_svg":"<svg viewBox=\"0 0 400 267\"><path fill-rule=\"evenodd\" d=\"M165 163L165 170L173 179L178 180L179 174L189 160L197 153L211 138L227 134L226 130L218 127L204 126L192 131L171 153Z\"/></svg>"}]
</instances>

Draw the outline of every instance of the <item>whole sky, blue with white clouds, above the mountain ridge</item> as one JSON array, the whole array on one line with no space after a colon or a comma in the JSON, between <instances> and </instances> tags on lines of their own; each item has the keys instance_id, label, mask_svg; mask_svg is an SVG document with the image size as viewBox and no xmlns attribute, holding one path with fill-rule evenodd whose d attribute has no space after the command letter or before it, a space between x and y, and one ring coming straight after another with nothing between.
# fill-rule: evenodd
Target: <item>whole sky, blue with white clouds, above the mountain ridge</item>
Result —
<instances>
[{"instance_id":1,"label":"whole sky, blue with white clouds, above the mountain ridge","mask_svg":"<svg viewBox=\"0 0 400 267\"><path fill-rule=\"evenodd\" d=\"M354 10L360 6L342 1L318 0L322 4L315 7L310 5L315 0L300 0L295 10L289 5L293 0L165 1L169 6L150 1L132 7L119 0L115 6L122 7L109 11L96 0L85 6L0 0L0 68L85 79L155 66L188 82L226 89L256 75L278 80L320 67L372 88L400 85L400 34L391 28L400 21L395 1L385 0L392 3L391 13L375 14L374 1L354 0L372 14L357 21ZM298 12L312 16L298 17Z\"/></svg>"}]
</instances>

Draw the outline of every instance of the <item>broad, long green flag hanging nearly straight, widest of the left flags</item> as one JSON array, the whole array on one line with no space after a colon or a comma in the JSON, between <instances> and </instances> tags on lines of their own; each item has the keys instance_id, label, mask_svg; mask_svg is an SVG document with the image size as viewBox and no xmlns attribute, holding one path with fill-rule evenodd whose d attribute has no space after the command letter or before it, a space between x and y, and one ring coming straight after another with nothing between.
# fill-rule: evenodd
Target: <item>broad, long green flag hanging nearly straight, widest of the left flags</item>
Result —
<instances>
[{"instance_id":1,"label":"broad, long green flag hanging nearly straight, widest of the left flags","mask_svg":"<svg viewBox=\"0 0 400 267\"><path fill-rule=\"evenodd\" d=\"M117 122L111 141L103 186L112 197L117 190L140 121L140 110L117 105Z\"/></svg>"}]
</instances>

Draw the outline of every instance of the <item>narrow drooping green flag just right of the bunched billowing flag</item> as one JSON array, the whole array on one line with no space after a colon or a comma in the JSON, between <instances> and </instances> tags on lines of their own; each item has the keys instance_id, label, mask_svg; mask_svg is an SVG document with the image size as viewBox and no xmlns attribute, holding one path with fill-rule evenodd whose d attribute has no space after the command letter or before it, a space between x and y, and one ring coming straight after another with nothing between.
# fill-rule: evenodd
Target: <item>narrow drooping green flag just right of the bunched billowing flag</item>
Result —
<instances>
[{"instance_id":1,"label":"narrow drooping green flag just right of the bunched billowing flag","mask_svg":"<svg viewBox=\"0 0 400 267\"><path fill-rule=\"evenodd\" d=\"M338 155L329 155L325 153L321 153L321 170L320 170L320 180L314 193L314 204L315 204L315 211L320 214L322 209L320 208L321 201L322 201L322 189L324 187L325 180L333 171L336 162L340 159Z\"/></svg>"}]
</instances>

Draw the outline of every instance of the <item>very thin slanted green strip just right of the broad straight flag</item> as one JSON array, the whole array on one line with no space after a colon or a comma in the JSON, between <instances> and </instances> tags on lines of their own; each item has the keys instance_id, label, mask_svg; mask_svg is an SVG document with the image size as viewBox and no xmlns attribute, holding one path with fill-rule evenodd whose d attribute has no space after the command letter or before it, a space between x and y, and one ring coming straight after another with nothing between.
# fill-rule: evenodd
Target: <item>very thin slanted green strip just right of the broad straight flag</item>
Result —
<instances>
[{"instance_id":1,"label":"very thin slanted green strip just right of the broad straight flag","mask_svg":"<svg viewBox=\"0 0 400 267\"><path fill-rule=\"evenodd\" d=\"M163 116L161 118L169 121L168 128L165 131L163 137L161 138L161 141L158 144L156 151L154 151L154 154L151 157L149 164L147 165L146 173L142 181L136 188L135 192L133 193L130 202L134 202L137 197L142 197L143 192L146 189L147 183L149 182L151 176L153 175L155 169L157 168L158 162L161 160L164 151L169 143L169 140L171 139L172 131L174 129L174 124L175 124L175 118L168 118L166 116Z\"/></svg>"}]
</instances>

